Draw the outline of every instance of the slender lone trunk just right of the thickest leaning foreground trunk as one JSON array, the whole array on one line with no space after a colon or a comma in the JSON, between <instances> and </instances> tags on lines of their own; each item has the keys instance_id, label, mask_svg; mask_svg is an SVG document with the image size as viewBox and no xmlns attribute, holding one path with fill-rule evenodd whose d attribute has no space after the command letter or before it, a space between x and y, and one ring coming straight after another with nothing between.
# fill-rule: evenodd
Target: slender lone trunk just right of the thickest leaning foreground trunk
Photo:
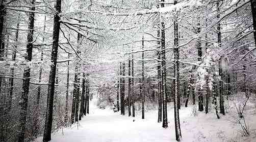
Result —
<instances>
[{"instance_id":1,"label":"slender lone trunk just right of the thickest leaning foreground trunk","mask_svg":"<svg viewBox=\"0 0 256 142\"><path fill-rule=\"evenodd\" d=\"M68 53L68 59L70 58L70 54ZM66 84L66 103L65 103L65 126L68 126L68 92L69 92L69 61L67 62L67 84Z\"/></svg>"}]
</instances>

